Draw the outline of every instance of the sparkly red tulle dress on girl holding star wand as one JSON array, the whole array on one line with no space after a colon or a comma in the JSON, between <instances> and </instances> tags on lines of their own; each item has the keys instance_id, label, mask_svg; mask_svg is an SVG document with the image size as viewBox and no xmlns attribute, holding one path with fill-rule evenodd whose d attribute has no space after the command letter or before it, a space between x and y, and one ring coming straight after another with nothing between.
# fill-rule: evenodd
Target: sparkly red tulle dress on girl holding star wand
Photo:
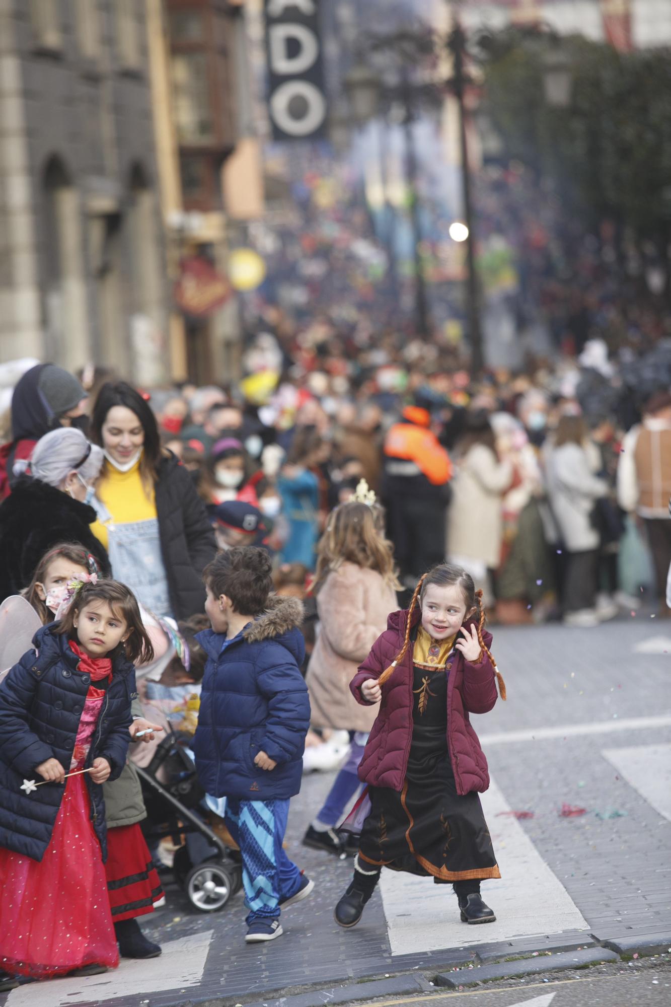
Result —
<instances>
[{"instance_id":1,"label":"sparkly red tulle dress on girl holding star wand","mask_svg":"<svg viewBox=\"0 0 671 1007\"><path fill-rule=\"evenodd\" d=\"M81 670L111 680L109 659L76 643ZM89 687L69 771L84 767L105 690ZM46 783L46 786L49 784ZM46 979L86 965L119 964L100 843L84 774L70 776L41 861L0 848L0 969Z\"/></svg>"}]
</instances>

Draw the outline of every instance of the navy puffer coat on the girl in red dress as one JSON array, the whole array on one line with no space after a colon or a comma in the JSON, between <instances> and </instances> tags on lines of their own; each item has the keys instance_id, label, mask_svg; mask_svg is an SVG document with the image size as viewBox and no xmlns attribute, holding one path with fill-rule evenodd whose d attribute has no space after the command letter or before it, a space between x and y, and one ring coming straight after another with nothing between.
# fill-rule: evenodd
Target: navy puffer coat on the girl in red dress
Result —
<instances>
[{"instance_id":1,"label":"navy puffer coat on the girl in red dress","mask_svg":"<svg viewBox=\"0 0 671 1007\"><path fill-rule=\"evenodd\" d=\"M45 783L32 794L23 779L35 779L35 767L57 758L69 771L91 679L78 671L77 655L53 623L38 629L35 651L28 651L0 683L0 846L41 860L51 839L64 784ZM93 743L85 765L102 755L117 779L126 763L132 722L131 702L137 695L135 669L125 658L113 663ZM107 859L103 787L89 773L91 819Z\"/></svg>"}]
</instances>

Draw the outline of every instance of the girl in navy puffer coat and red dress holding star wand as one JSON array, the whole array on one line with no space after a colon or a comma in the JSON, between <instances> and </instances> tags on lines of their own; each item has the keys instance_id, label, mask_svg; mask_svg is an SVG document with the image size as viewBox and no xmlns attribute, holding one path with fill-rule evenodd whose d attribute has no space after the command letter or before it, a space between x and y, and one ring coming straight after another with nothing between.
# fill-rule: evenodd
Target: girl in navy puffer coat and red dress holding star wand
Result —
<instances>
[{"instance_id":1,"label":"girl in navy puffer coat and red dress holding star wand","mask_svg":"<svg viewBox=\"0 0 671 1007\"><path fill-rule=\"evenodd\" d=\"M0 989L118 965L101 784L126 761L133 661L152 657L116 581L80 582L33 642L0 684Z\"/></svg>"}]
</instances>

